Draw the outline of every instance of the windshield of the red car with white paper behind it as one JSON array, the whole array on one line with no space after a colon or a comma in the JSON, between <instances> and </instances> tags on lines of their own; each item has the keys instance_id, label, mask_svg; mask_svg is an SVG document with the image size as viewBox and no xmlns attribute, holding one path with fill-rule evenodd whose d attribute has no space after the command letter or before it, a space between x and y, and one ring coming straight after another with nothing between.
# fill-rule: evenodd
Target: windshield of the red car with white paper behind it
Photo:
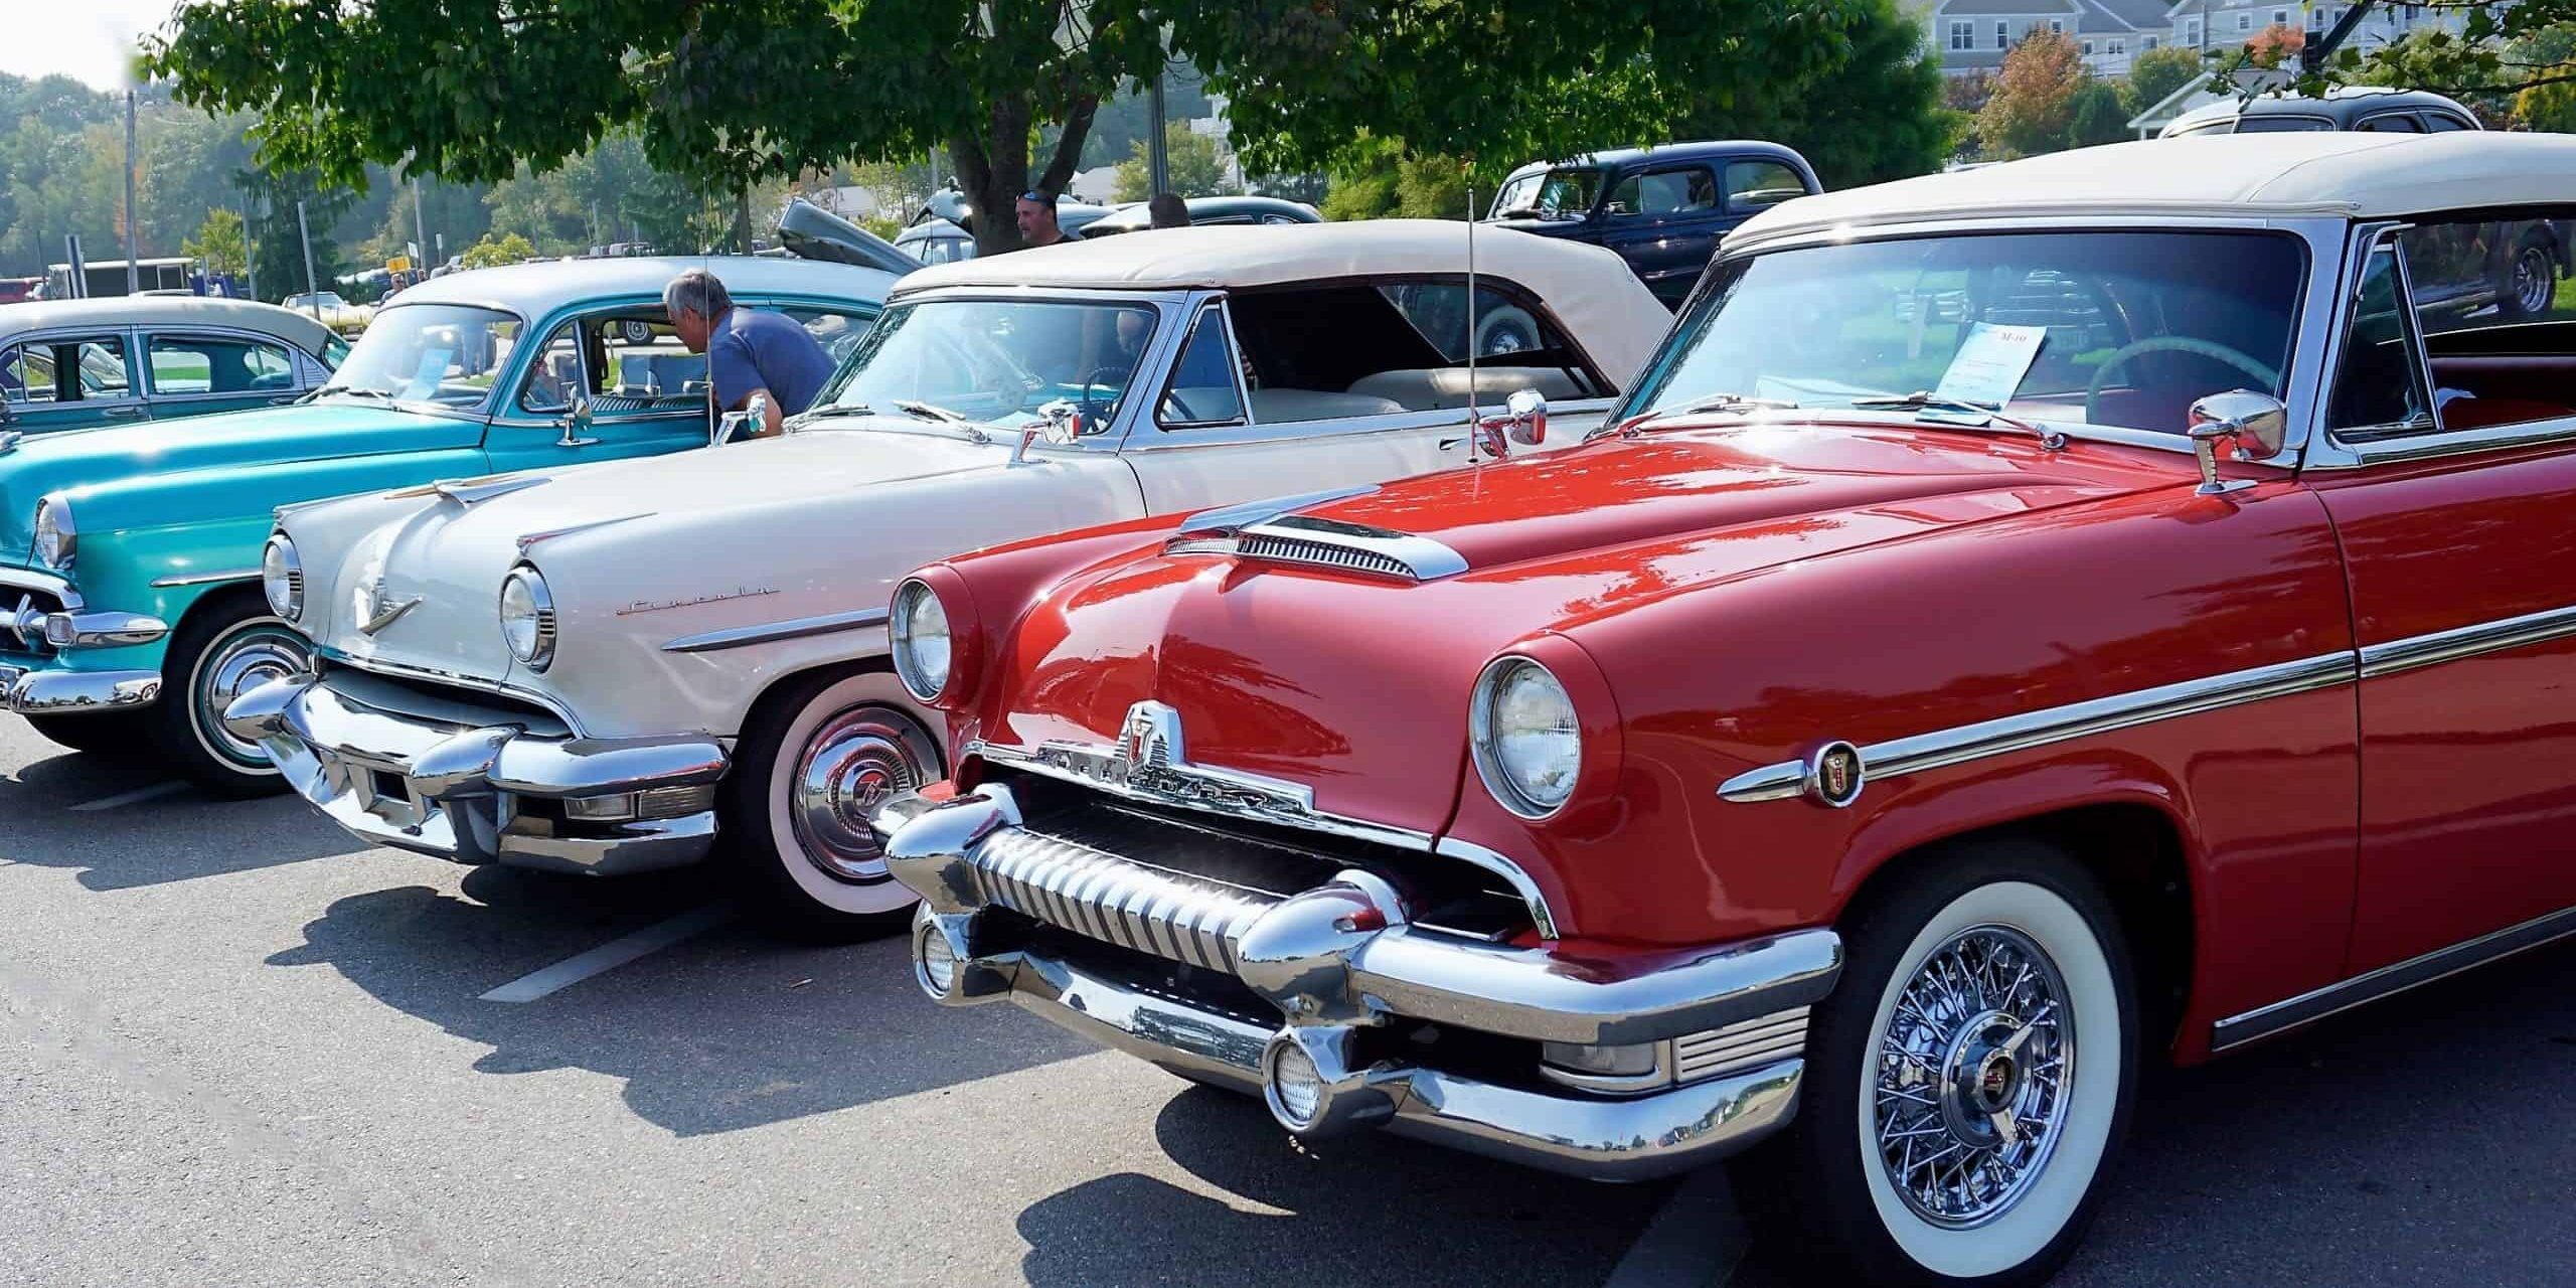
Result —
<instances>
[{"instance_id":1,"label":"windshield of the red car with white paper behind it","mask_svg":"<svg viewBox=\"0 0 2576 1288\"><path fill-rule=\"evenodd\" d=\"M1625 415L1937 392L2025 420L2184 433L2282 397L2303 242L2262 232L1953 234L1723 263Z\"/></svg>"}]
</instances>

